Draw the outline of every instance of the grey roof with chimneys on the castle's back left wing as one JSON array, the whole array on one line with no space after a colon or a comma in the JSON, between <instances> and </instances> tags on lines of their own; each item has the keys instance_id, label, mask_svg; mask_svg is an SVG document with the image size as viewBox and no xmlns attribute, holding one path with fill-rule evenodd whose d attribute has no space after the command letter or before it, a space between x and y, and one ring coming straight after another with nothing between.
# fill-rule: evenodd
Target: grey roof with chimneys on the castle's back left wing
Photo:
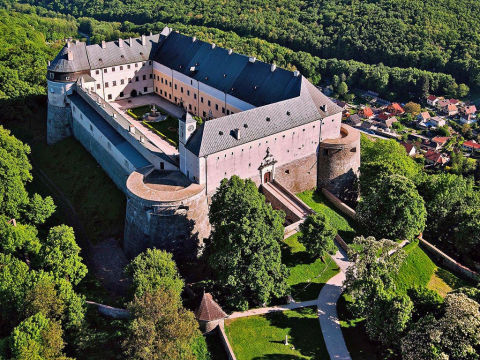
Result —
<instances>
[{"instance_id":1,"label":"grey roof with chimneys on the castle's back left wing","mask_svg":"<svg viewBox=\"0 0 480 360\"><path fill-rule=\"evenodd\" d=\"M99 69L151 59L165 36L154 34L145 38L145 45L142 45L141 37L124 39L122 47L119 46L119 40L105 43L105 49L99 44L88 45L87 54L91 68Z\"/></svg>"}]
</instances>

